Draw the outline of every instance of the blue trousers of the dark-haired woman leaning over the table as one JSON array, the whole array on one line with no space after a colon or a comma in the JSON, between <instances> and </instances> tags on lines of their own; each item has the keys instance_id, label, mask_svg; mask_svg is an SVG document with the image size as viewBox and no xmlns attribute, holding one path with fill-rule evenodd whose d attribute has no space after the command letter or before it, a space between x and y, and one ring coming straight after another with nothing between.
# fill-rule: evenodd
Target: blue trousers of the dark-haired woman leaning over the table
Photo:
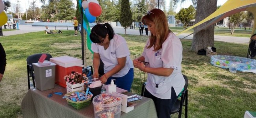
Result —
<instances>
[{"instance_id":1,"label":"blue trousers of the dark-haired woman leaning over the table","mask_svg":"<svg viewBox=\"0 0 256 118\"><path fill-rule=\"evenodd\" d=\"M115 79L115 85L117 85L118 88L128 90L130 92L132 81L134 80L134 68L130 68L129 72L122 77L109 77L106 85L109 85L111 82L111 79Z\"/></svg>"}]
</instances>

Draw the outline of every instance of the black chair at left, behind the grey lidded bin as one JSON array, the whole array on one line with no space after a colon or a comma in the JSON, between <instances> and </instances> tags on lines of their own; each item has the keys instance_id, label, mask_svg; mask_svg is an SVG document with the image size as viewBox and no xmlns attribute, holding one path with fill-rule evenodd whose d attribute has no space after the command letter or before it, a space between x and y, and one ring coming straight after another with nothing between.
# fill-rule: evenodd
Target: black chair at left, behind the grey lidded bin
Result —
<instances>
[{"instance_id":1,"label":"black chair at left, behind the grey lidded bin","mask_svg":"<svg viewBox=\"0 0 256 118\"><path fill-rule=\"evenodd\" d=\"M27 58L28 90L30 89L30 77L32 77L33 87L35 87L35 76L34 76L34 68L32 63L37 63L41 55L42 55L41 53L37 53L37 54L30 55ZM52 58L52 55L48 53L46 55L47 57L45 60L50 61L50 58Z\"/></svg>"}]
</instances>

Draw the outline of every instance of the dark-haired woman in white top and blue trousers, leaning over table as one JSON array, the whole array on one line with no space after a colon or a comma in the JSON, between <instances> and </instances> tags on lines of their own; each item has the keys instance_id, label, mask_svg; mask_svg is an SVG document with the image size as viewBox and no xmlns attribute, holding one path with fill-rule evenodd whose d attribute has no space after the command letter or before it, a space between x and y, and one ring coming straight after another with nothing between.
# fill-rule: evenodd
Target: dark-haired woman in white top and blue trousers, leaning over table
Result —
<instances>
[{"instance_id":1,"label":"dark-haired woman in white top and blue trousers, leaning over table","mask_svg":"<svg viewBox=\"0 0 256 118\"><path fill-rule=\"evenodd\" d=\"M102 83L110 84L115 79L115 84L121 89L130 91L134 79L134 66L130 59L129 48L120 35L114 33L108 24L97 24L90 34L93 42L93 78L98 78L100 59L104 63L105 74L100 77Z\"/></svg>"}]
</instances>

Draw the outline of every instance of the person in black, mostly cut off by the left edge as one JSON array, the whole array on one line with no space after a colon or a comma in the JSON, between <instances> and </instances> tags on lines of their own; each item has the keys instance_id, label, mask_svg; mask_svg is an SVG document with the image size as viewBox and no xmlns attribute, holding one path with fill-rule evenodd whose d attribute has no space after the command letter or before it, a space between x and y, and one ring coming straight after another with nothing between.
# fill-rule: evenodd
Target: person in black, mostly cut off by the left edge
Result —
<instances>
[{"instance_id":1,"label":"person in black, mostly cut off by the left edge","mask_svg":"<svg viewBox=\"0 0 256 118\"><path fill-rule=\"evenodd\" d=\"M4 47L0 43L0 82L4 76L4 70L6 70L6 52L4 51Z\"/></svg>"}]
</instances>

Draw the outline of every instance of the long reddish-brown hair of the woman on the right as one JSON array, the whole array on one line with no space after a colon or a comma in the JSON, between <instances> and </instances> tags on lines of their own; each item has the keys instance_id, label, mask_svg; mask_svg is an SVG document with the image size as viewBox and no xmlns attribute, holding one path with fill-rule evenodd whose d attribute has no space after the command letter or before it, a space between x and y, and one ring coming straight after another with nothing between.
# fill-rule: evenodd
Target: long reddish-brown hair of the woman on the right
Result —
<instances>
[{"instance_id":1,"label":"long reddish-brown hair of the woman on the right","mask_svg":"<svg viewBox=\"0 0 256 118\"><path fill-rule=\"evenodd\" d=\"M150 44L149 46L147 46L147 48L151 48L152 46L154 46L157 41L156 39L159 39L159 42L154 49L154 51L156 51L162 48L162 44L167 39L171 30L169 29L165 13L163 13L163 11L160 9L152 9L151 11L148 11L147 15L142 17L143 24L148 25L148 21L154 23L156 36L153 36L152 34L150 35Z\"/></svg>"}]
</instances>

